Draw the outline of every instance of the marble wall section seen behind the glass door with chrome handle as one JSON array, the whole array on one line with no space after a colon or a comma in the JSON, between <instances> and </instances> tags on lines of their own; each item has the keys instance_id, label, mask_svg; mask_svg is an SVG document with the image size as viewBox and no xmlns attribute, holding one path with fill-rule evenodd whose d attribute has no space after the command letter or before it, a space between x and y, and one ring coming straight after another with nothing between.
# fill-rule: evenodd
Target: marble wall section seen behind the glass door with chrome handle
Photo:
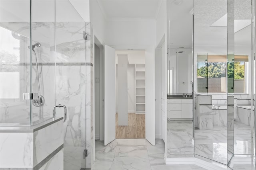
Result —
<instances>
[{"instance_id":1,"label":"marble wall section seen behind the glass door with chrome handle","mask_svg":"<svg viewBox=\"0 0 256 170\"><path fill-rule=\"evenodd\" d=\"M88 33L84 40L83 32ZM90 23L56 23L56 104L68 107L64 123L64 169L90 168L93 156L93 58ZM92 55L93 57L93 55ZM63 110L56 109L56 116ZM88 157L83 157L84 149Z\"/></svg>"}]
</instances>

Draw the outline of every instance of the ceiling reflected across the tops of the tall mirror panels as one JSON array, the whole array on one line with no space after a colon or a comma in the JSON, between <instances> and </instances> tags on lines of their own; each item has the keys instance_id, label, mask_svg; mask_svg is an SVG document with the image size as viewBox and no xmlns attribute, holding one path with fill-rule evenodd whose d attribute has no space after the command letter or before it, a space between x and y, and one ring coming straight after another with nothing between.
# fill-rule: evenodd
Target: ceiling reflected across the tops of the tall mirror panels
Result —
<instances>
[{"instance_id":1,"label":"ceiling reflected across the tops of the tall mirror panels","mask_svg":"<svg viewBox=\"0 0 256 170\"><path fill-rule=\"evenodd\" d=\"M172 0L167 1L167 9L168 22L170 21L170 48L192 47L193 12L195 45L227 45L227 27L213 25L227 14L226 0L195 0L194 5L192 0ZM250 21L250 10L250 1L234 1L235 24L240 22L240 27L234 34L235 45L250 45L250 25L241 25L241 21ZM227 19L225 21L227 22Z\"/></svg>"}]
</instances>

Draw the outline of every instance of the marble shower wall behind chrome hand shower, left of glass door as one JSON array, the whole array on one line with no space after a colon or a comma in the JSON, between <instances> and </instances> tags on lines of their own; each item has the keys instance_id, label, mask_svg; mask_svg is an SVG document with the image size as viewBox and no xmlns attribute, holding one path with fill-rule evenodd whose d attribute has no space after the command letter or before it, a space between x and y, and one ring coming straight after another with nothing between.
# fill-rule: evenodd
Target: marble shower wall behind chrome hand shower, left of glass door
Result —
<instances>
[{"instance_id":1,"label":"marble shower wall behind chrome hand shower, left of glass door","mask_svg":"<svg viewBox=\"0 0 256 170\"><path fill-rule=\"evenodd\" d=\"M21 123L29 125L30 122L30 102L22 99L23 93L30 92L30 23L28 22L1 22L1 27L9 31L10 38L19 41L19 45L14 51L17 60L11 60L1 64L1 72L17 72L19 74L18 84L12 84L13 88L19 88L18 99L1 100L1 119L0 123ZM47 118L52 116L52 107L54 106L54 66L55 56L54 48L54 23L53 22L32 22L32 44L40 42L41 47L36 47L38 59L38 70L40 79L41 95L45 98L45 104L41 107L41 117ZM18 35L19 33L20 35ZM14 57L13 56L13 57ZM35 55L32 53L32 92L38 91L38 82L36 74ZM13 70L14 69L14 70ZM17 80L16 80L17 81ZM18 114L17 114L18 111ZM32 121L39 120L39 108L32 106Z\"/></svg>"}]
</instances>

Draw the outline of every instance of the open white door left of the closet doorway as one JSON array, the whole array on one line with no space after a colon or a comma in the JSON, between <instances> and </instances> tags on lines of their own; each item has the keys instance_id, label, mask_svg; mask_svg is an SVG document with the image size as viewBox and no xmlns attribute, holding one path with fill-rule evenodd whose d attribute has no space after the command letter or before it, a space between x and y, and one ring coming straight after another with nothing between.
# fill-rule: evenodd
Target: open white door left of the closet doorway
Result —
<instances>
[{"instance_id":1,"label":"open white door left of the closet doorway","mask_svg":"<svg viewBox=\"0 0 256 170\"><path fill-rule=\"evenodd\" d=\"M115 49L104 45L104 146L116 139Z\"/></svg>"}]
</instances>

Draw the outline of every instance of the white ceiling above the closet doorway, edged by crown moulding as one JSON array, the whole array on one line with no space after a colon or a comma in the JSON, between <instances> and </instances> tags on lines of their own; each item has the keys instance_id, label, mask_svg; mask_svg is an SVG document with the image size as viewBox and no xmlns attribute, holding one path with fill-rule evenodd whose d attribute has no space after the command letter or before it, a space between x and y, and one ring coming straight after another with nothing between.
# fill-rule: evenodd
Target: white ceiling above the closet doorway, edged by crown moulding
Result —
<instances>
[{"instance_id":1,"label":"white ceiling above the closet doorway, edged by crown moulding","mask_svg":"<svg viewBox=\"0 0 256 170\"><path fill-rule=\"evenodd\" d=\"M156 19L161 0L97 0L108 20Z\"/></svg>"}]
</instances>

